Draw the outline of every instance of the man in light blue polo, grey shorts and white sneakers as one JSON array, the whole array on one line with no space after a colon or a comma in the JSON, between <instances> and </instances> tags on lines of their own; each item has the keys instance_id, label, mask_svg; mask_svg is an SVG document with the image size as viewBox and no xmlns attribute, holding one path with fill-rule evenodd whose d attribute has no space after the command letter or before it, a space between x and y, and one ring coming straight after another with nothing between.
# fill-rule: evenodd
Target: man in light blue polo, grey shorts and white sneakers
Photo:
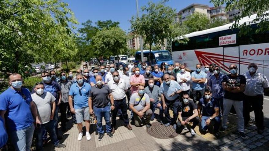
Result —
<instances>
[{"instance_id":1,"label":"man in light blue polo, grey shorts and white sneakers","mask_svg":"<svg viewBox=\"0 0 269 151\"><path fill-rule=\"evenodd\" d=\"M86 69L87 70L87 69ZM69 106L70 111L76 114L77 120L77 128L79 130L78 141L82 139L82 122L85 120L85 127L86 127L86 138L90 140L90 112L89 112L89 92L91 89L90 84L86 83L83 80L83 75L78 73L76 74L77 83L72 84L70 91L69 91ZM73 101L74 99L74 107Z\"/></svg>"}]
</instances>

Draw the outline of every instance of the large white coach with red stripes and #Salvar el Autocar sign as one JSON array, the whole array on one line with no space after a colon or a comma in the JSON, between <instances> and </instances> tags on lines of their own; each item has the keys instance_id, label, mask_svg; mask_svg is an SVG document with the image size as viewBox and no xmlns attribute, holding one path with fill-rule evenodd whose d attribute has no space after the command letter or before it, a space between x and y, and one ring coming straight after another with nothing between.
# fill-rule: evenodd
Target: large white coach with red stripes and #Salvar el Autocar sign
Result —
<instances>
[{"instance_id":1,"label":"large white coach with red stripes and #Salvar el Autocar sign","mask_svg":"<svg viewBox=\"0 0 269 151\"><path fill-rule=\"evenodd\" d=\"M269 11L267 11L269 12ZM244 17L240 24L247 24L256 18L256 14ZM269 22L268 22L269 23ZM201 63L215 63L223 72L229 72L229 65L234 63L238 73L248 71L249 63L256 63L258 72L269 78L269 31L264 34L251 33L239 36L238 29L231 30L232 23L186 34L189 41L185 44L174 41L172 43L173 61L185 64L191 70L196 70L195 65ZM258 28L257 24L251 24Z\"/></svg>"}]
</instances>

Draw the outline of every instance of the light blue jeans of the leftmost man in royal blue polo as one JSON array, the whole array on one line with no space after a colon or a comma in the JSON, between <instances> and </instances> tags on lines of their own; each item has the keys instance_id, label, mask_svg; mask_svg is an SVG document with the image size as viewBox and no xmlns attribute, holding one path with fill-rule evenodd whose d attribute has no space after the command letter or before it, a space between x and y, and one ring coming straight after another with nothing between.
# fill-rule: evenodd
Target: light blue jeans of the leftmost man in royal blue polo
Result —
<instances>
[{"instance_id":1,"label":"light blue jeans of the leftmost man in royal blue polo","mask_svg":"<svg viewBox=\"0 0 269 151\"><path fill-rule=\"evenodd\" d=\"M10 132L10 140L17 151L30 151L35 125L31 124L24 129Z\"/></svg>"}]
</instances>

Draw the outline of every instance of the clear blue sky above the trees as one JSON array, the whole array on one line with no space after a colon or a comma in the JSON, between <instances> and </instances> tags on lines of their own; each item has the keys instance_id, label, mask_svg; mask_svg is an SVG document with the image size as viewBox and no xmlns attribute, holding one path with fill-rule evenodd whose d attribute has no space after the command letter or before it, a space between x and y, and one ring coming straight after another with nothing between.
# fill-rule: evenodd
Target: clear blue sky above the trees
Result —
<instances>
[{"instance_id":1,"label":"clear blue sky above the trees","mask_svg":"<svg viewBox=\"0 0 269 151\"><path fill-rule=\"evenodd\" d=\"M69 4L69 8L74 12L76 19L79 22L78 28L82 27L81 23L87 20L92 20L93 23L97 20L112 20L120 22L120 27L128 32L130 23L128 20L131 16L136 15L135 0L63 0ZM152 2L160 2L160 0L151 0ZM149 0L138 0L138 8L146 5ZM170 0L166 5L177 12L192 4L205 4L213 6L210 0ZM140 13L141 14L141 13Z\"/></svg>"}]
</instances>

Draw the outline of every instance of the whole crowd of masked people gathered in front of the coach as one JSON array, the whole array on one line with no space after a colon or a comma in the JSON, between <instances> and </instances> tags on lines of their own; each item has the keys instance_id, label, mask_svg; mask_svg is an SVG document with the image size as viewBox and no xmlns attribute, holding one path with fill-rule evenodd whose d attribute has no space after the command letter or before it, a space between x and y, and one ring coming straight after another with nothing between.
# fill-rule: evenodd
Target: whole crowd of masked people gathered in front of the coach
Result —
<instances>
[{"instance_id":1,"label":"whole crowd of masked people gathered in front of the coach","mask_svg":"<svg viewBox=\"0 0 269 151\"><path fill-rule=\"evenodd\" d=\"M16 150L29 151L35 136L36 149L43 150L47 133L54 147L65 147L59 142L62 136L58 121L61 121L61 130L66 131L67 114L77 125L78 141L83 138L83 121L86 139L91 139L90 116L97 120L99 141L105 133L113 137L116 117L123 120L123 126L130 131L130 121L137 127L150 128L150 121L156 119L179 133L189 129L193 136L197 125L201 133L207 133L213 126L213 134L218 137L228 127L232 106L241 138L246 138L244 128L250 120L251 109L255 113L257 132L261 134L263 92L268 90L269 83L257 72L255 63L250 63L248 69L239 75L235 64L229 66L230 74L224 74L215 64L205 65L204 69L197 64L193 72L180 63L162 63L160 67L148 66L146 62L118 67L112 63L91 70L85 64L76 74L62 71L57 76L53 70L42 72L42 81L36 83L31 92L22 87L22 76L13 73L9 76L10 87L0 95L0 148L1 151L7 149L9 137Z\"/></svg>"}]
</instances>

